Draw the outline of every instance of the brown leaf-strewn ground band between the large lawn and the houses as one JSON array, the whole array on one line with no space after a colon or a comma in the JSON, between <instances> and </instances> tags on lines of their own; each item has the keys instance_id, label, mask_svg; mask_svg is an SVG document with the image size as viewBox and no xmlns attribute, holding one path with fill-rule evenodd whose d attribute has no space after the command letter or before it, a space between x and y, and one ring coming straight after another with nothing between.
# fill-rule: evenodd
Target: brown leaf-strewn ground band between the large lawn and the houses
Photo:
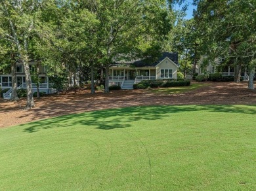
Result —
<instances>
[{"instance_id":1,"label":"brown leaf-strewn ground band between the large lawn and the houses","mask_svg":"<svg viewBox=\"0 0 256 191\"><path fill-rule=\"evenodd\" d=\"M255 105L256 90L248 90L247 82L209 82L197 90L183 94L153 94L150 90L119 90L110 94L90 90L66 92L35 98L35 107L24 110L26 99L8 101L0 98L0 128L24 124L33 120L63 114L82 113L99 109L142 105Z\"/></svg>"}]
</instances>

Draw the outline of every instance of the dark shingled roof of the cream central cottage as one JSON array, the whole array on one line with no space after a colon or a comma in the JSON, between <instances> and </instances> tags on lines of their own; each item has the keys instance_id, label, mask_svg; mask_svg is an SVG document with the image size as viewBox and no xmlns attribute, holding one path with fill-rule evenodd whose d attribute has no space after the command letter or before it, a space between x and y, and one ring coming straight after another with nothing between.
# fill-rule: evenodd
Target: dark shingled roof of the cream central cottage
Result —
<instances>
[{"instance_id":1,"label":"dark shingled roof of the cream central cottage","mask_svg":"<svg viewBox=\"0 0 256 191\"><path fill-rule=\"evenodd\" d=\"M133 65L133 67L156 67L165 58L169 58L171 61L179 66L178 53L177 52L163 52L158 60L153 60L152 58L144 58L140 60L133 60L128 62L117 62L115 65L125 64L126 66Z\"/></svg>"}]
</instances>

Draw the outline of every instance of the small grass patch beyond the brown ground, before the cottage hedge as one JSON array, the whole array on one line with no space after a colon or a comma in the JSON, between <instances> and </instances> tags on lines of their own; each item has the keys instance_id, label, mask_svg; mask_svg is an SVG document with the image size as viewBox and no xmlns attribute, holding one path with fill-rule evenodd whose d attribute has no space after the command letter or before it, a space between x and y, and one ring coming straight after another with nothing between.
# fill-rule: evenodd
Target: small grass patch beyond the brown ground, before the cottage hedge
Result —
<instances>
[{"instance_id":1,"label":"small grass patch beyond the brown ground, before the cottage hedge","mask_svg":"<svg viewBox=\"0 0 256 191\"><path fill-rule=\"evenodd\" d=\"M171 87L171 88L153 88L150 92L160 93L160 94L181 94L191 90L196 90L203 86L209 86L209 84L191 84L190 86L181 86L181 87Z\"/></svg>"}]
</instances>

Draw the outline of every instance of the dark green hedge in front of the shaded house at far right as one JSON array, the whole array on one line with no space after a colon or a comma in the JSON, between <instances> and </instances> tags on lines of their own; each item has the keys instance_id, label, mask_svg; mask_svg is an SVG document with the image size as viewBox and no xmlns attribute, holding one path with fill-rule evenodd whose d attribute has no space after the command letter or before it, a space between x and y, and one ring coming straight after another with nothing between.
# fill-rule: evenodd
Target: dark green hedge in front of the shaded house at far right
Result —
<instances>
[{"instance_id":1,"label":"dark green hedge in front of the shaded house at far right","mask_svg":"<svg viewBox=\"0 0 256 191\"><path fill-rule=\"evenodd\" d=\"M240 78L240 80L244 80L244 78ZM234 81L234 76L224 76L221 73L214 73L209 74L207 77L206 75L198 75L196 76L196 81L203 82L203 81L212 81L212 82L232 82Z\"/></svg>"}]
</instances>

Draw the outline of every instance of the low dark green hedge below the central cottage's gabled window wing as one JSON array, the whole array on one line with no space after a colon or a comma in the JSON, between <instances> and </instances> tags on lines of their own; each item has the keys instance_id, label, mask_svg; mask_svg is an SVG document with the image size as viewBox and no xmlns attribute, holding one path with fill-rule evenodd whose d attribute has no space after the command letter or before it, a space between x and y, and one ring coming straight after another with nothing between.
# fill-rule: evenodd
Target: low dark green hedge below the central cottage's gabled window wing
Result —
<instances>
[{"instance_id":1,"label":"low dark green hedge below the central cottage's gabled window wing","mask_svg":"<svg viewBox=\"0 0 256 191\"><path fill-rule=\"evenodd\" d=\"M133 89L146 89L146 88L166 88L175 86L189 86L190 80L142 80L138 84L133 84Z\"/></svg>"}]
</instances>

